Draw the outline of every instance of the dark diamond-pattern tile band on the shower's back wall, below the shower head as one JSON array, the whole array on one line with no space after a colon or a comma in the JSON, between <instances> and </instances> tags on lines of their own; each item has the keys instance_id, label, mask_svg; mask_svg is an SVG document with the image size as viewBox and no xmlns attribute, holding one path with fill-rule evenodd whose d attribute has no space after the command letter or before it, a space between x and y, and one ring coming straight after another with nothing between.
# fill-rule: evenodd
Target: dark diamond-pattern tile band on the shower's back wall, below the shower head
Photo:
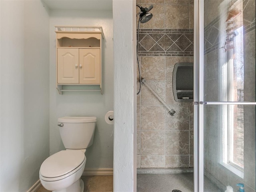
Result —
<instances>
[{"instance_id":1,"label":"dark diamond-pattern tile band on the shower's back wall, below the shower head","mask_svg":"<svg viewBox=\"0 0 256 192\"><path fill-rule=\"evenodd\" d=\"M193 56L194 30L140 29L138 56Z\"/></svg>"}]
</instances>

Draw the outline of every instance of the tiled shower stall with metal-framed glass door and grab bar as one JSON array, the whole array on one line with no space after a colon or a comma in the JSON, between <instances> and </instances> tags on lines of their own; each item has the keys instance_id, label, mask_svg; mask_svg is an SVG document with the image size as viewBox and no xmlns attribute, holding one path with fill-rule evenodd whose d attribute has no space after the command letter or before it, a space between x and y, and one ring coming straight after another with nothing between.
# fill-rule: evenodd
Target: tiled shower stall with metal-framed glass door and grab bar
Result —
<instances>
[{"instance_id":1,"label":"tiled shower stall with metal-framed glass door and grab bar","mask_svg":"<svg viewBox=\"0 0 256 192\"><path fill-rule=\"evenodd\" d=\"M194 173L184 191L255 192L255 0L137 4L153 15L137 28L137 173ZM178 63L194 66L192 101L175 99Z\"/></svg>"}]
</instances>

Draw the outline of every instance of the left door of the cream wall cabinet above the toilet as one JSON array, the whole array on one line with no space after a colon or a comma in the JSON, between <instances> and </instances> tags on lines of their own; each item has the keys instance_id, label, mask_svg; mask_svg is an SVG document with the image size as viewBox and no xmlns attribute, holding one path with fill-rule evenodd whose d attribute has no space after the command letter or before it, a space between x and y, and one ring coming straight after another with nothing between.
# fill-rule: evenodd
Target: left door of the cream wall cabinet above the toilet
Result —
<instances>
[{"instance_id":1,"label":"left door of the cream wall cabinet above the toilet","mask_svg":"<svg viewBox=\"0 0 256 192\"><path fill-rule=\"evenodd\" d=\"M57 82L79 83L79 50L58 48L57 54Z\"/></svg>"}]
</instances>

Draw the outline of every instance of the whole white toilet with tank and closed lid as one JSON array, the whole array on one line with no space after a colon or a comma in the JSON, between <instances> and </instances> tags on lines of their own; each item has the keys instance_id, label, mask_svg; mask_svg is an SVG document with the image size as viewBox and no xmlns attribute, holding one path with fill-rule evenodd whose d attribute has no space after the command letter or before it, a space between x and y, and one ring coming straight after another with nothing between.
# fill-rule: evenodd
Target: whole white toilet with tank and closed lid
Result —
<instances>
[{"instance_id":1,"label":"whole white toilet with tank and closed lid","mask_svg":"<svg viewBox=\"0 0 256 192\"><path fill-rule=\"evenodd\" d=\"M83 192L80 179L86 162L86 148L92 145L96 117L58 118L60 136L66 150L57 152L42 163L41 184L54 192Z\"/></svg>"}]
</instances>

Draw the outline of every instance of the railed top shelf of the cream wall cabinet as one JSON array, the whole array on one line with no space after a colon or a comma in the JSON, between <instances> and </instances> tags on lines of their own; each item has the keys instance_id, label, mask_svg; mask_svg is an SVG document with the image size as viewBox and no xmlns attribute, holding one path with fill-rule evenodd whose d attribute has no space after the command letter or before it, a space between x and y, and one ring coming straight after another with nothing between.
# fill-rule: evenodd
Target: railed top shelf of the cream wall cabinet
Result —
<instances>
[{"instance_id":1,"label":"railed top shelf of the cream wall cabinet","mask_svg":"<svg viewBox=\"0 0 256 192\"><path fill-rule=\"evenodd\" d=\"M56 33L100 33L104 38L101 26L54 26Z\"/></svg>"}]
</instances>

